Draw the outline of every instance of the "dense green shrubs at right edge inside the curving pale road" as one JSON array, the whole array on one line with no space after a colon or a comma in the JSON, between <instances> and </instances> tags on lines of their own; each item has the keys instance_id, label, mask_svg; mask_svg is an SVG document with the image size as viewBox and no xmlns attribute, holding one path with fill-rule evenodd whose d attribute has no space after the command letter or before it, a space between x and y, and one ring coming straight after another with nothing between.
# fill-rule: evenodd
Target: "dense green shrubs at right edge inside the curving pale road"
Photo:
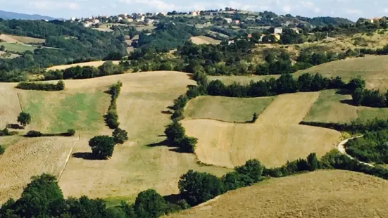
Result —
<instances>
[{"instance_id":1,"label":"dense green shrubs at right edge inside the curving pale road","mask_svg":"<svg viewBox=\"0 0 388 218\"><path fill-rule=\"evenodd\" d=\"M388 130L366 132L346 143L346 153L363 162L388 163Z\"/></svg>"}]
</instances>

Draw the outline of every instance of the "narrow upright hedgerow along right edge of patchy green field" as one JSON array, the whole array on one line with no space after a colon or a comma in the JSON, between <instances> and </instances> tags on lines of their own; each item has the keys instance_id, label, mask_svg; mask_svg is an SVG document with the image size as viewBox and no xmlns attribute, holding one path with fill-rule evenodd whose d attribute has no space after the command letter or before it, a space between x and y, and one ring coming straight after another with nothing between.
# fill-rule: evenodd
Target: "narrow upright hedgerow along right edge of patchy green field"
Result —
<instances>
[{"instance_id":1,"label":"narrow upright hedgerow along right edge of patchy green field","mask_svg":"<svg viewBox=\"0 0 388 218\"><path fill-rule=\"evenodd\" d=\"M108 112L106 115L104 115L105 122L111 129L117 129L120 125L120 122L118 121L118 113L117 113L117 98L120 94L121 86L123 84L118 81L116 84L113 84L109 87L109 90L107 91L108 94L111 95L111 105L109 105Z\"/></svg>"}]
</instances>

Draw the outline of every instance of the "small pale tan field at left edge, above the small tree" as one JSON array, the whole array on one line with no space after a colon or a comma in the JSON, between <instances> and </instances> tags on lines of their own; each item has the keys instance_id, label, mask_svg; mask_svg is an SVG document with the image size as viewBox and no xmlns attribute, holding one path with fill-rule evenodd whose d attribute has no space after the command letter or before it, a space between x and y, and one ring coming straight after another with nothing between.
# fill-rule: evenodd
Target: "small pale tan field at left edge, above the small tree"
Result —
<instances>
[{"instance_id":1,"label":"small pale tan field at left edge, above the small tree","mask_svg":"<svg viewBox=\"0 0 388 218\"><path fill-rule=\"evenodd\" d=\"M16 123L21 108L12 84L0 85L0 99L0 129L4 129L6 124Z\"/></svg>"}]
</instances>

